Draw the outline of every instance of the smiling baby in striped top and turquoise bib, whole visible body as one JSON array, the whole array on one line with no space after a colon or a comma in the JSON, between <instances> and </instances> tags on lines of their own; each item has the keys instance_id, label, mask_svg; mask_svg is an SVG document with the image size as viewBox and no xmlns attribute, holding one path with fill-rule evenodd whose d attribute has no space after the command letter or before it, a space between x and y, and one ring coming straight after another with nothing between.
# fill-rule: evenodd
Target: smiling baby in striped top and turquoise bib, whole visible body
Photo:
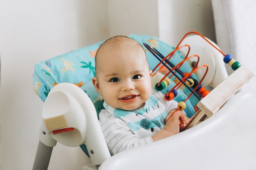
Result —
<instances>
[{"instance_id":1,"label":"smiling baby in striped top and turquoise bib, whole visible body","mask_svg":"<svg viewBox=\"0 0 256 170\"><path fill-rule=\"evenodd\" d=\"M115 36L99 47L92 83L104 99L99 114L112 154L175 135L189 122L177 102L151 88L146 53L135 40Z\"/></svg>"}]
</instances>

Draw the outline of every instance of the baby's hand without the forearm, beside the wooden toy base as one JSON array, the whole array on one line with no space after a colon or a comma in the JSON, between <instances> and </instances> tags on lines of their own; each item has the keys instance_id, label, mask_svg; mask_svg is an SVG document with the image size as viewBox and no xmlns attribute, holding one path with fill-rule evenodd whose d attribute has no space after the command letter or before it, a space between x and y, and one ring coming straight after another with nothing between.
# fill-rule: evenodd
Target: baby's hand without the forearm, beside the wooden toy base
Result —
<instances>
[{"instance_id":1,"label":"baby's hand without the forearm, beside the wooden toy base","mask_svg":"<svg viewBox=\"0 0 256 170\"><path fill-rule=\"evenodd\" d=\"M165 128L173 132L174 134L179 133L186 124L188 124L190 119L184 115L180 110L171 110L168 116L165 118Z\"/></svg>"}]
</instances>

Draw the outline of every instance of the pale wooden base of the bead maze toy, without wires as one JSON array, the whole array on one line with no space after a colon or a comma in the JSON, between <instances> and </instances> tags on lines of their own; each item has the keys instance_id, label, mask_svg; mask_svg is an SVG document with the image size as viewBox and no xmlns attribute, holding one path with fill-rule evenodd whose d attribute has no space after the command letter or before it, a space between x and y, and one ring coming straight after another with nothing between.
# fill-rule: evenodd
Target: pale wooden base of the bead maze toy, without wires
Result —
<instances>
[{"instance_id":1,"label":"pale wooden base of the bead maze toy, without wires","mask_svg":"<svg viewBox=\"0 0 256 170\"><path fill-rule=\"evenodd\" d=\"M254 76L254 73L245 66L240 66L227 79L221 82L208 95L201 99L197 106L200 108L197 113L191 118L189 124L184 130L189 129L198 122L203 121L207 117L215 114L227 100L234 95L244 84L249 82Z\"/></svg>"}]
</instances>

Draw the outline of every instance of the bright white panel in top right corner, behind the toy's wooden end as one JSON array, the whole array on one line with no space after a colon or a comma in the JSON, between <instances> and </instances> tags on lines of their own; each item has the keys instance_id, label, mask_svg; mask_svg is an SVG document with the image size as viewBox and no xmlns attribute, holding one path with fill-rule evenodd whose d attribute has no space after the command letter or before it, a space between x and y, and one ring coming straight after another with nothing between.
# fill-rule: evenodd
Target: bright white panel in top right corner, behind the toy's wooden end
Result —
<instances>
[{"instance_id":1,"label":"bright white panel in top right corner, behind the toy's wooden end","mask_svg":"<svg viewBox=\"0 0 256 170\"><path fill-rule=\"evenodd\" d=\"M212 0L212 4L218 46L256 74L256 1ZM229 74L234 72L228 64L226 68ZM255 84L256 76L240 91L256 89Z\"/></svg>"}]
</instances>

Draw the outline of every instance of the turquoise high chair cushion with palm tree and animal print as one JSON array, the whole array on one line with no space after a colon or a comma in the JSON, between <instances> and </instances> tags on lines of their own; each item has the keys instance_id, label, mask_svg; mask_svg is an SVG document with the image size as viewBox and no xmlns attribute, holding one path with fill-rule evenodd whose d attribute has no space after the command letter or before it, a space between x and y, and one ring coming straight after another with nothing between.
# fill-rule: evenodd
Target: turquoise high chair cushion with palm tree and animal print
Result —
<instances>
[{"instance_id":1,"label":"turquoise high chair cushion with palm tree and animal print","mask_svg":"<svg viewBox=\"0 0 256 170\"><path fill-rule=\"evenodd\" d=\"M173 46L170 46L165 42L148 35L128 35L128 37L136 40L143 47L143 43L150 45L150 47L154 47L164 56L168 55L174 49ZM95 76L95 53L102 42L85 46L81 49L77 49L35 64L33 76L35 93L43 101L45 101L49 91L54 85L61 82L69 82L82 87L86 93L90 93L88 94L90 97L93 96L92 94L98 95L91 84L91 79L93 76ZM144 49L146 51L149 67L151 70L153 70L153 68L155 68L155 66L159 63L159 60L157 60L145 47ZM176 52L175 55L171 57L170 61L176 65L183 59L183 55L180 52ZM157 68L157 70L158 69L159 68ZM180 70L182 72L191 72L192 68L190 63L188 61L185 62ZM195 75L193 75L193 78L197 79ZM177 79L175 79L174 76L171 79L173 80L171 81L171 85L165 88L162 91L163 93L169 91L174 86L175 82L177 82ZM179 93L175 98L178 102L186 99L186 96L190 94L190 91L184 87L182 90L179 89L178 92ZM94 99L92 99L92 101L95 102ZM188 113L188 117L195 114L194 106L197 103L198 99L193 95L186 102L187 108L185 111ZM97 107L101 109L101 107L99 107L99 102L97 102Z\"/></svg>"}]
</instances>

